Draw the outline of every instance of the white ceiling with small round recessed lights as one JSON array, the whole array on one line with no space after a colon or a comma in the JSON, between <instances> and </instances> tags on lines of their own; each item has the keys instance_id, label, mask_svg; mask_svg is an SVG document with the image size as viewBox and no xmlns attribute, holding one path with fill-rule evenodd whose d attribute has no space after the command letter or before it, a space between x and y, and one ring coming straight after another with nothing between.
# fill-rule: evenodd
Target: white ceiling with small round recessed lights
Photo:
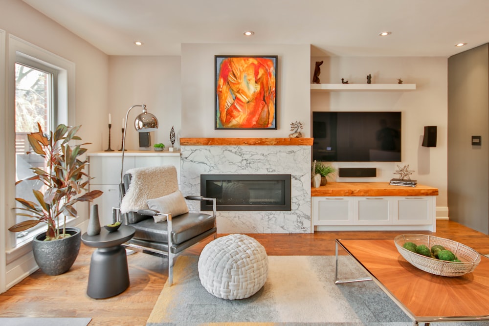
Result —
<instances>
[{"instance_id":1,"label":"white ceiling with small round recessed lights","mask_svg":"<svg viewBox=\"0 0 489 326\"><path fill-rule=\"evenodd\" d=\"M23 1L108 55L265 43L312 44L312 55L449 57L489 42L489 0Z\"/></svg>"}]
</instances>

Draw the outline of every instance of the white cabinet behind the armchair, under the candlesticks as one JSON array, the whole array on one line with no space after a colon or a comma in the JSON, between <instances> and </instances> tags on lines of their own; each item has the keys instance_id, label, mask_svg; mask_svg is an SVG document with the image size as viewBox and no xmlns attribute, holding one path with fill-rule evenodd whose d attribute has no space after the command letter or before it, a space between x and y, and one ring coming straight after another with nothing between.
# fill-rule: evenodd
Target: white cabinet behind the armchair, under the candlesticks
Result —
<instances>
[{"instance_id":1,"label":"white cabinet behind the armchair, under the candlesticks","mask_svg":"<svg viewBox=\"0 0 489 326\"><path fill-rule=\"evenodd\" d=\"M119 182L121 178L121 152L92 152L89 156L90 190L101 190L102 196L93 200L98 204L100 224L112 223L112 207L119 207ZM124 152L124 173L141 167L174 165L180 183L180 152Z\"/></svg>"}]
</instances>

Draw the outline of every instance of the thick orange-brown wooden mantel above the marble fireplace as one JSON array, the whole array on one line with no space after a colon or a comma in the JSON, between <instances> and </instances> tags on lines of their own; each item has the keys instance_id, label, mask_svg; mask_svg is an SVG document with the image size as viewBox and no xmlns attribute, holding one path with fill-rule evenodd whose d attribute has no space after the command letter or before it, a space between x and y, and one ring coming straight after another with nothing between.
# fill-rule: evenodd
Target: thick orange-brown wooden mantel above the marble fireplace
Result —
<instances>
[{"instance_id":1,"label":"thick orange-brown wooden mantel above the marble fireplace","mask_svg":"<svg viewBox=\"0 0 489 326\"><path fill-rule=\"evenodd\" d=\"M304 145L312 146L314 138L180 138L180 145Z\"/></svg>"}]
</instances>

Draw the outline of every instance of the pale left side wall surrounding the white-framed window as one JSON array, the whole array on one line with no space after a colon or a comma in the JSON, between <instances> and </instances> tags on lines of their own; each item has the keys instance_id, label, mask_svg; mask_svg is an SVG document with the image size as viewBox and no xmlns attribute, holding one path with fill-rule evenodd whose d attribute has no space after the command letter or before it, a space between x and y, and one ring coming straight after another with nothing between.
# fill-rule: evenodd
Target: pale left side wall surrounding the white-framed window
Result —
<instances>
[{"instance_id":1,"label":"pale left side wall surrounding the white-framed window","mask_svg":"<svg viewBox=\"0 0 489 326\"><path fill-rule=\"evenodd\" d=\"M6 34L4 45L7 54L9 51L9 35L12 35L75 64L75 108L70 108L74 109L75 117L70 120L77 125L82 125L79 135L83 141L93 144L88 146L89 149L99 148L102 139L97 132L102 130L106 124L99 121L97 116L99 114L106 116L108 113L108 56L21 0L1 1L0 29L3 29ZM3 46L0 46L0 50L2 48ZM3 56L0 55L0 58ZM5 62L9 62L9 60L10 58L7 56L0 62L0 65L5 66ZM12 69L7 67L6 73L8 74L9 71ZM5 78L10 83L13 80L10 75ZM2 140L6 144L5 147L0 147L0 156L4 158L0 161L1 175L5 175L5 178L2 178L5 188L4 192L1 192L5 205L1 207L3 211L0 214L0 221L5 227L11 226L15 220L12 210L12 207L15 206L15 173L13 171L15 134L12 128L14 125L12 114L14 108L13 105L7 106L6 104L13 103L11 101L13 89L11 85L7 85L5 101L0 102L2 112L0 129L4 132ZM88 218L88 204L77 208L81 219L86 220ZM12 234L6 231L6 236L9 238ZM5 237L2 236L2 239ZM33 262L30 249L24 248L23 252L27 254L22 255L21 253L19 256L17 255L19 252L16 252L16 255L7 255L8 265L2 264L0 267L0 272L5 275L4 280L0 278L3 281L0 284L0 292L20 281L22 277L28 275L35 268L36 265ZM4 250L0 254L3 255Z\"/></svg>"}]
</instances>

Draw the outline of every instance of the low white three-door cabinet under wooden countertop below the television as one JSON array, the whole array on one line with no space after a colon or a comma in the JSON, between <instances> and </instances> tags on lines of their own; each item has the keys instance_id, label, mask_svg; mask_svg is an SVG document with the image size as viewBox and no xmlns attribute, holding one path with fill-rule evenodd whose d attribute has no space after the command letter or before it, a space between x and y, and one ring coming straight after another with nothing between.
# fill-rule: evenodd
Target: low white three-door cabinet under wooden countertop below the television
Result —
<instances>
[{"instance_id":1,"label":"low white three-door cabinet under wooden countertop below the television","mask_svg":"<svg viewBox=\"0 0 489 326\"><path fill-rule=\"evenodd\" d=\"M435 216L435 196L312 197L312 221L318 231L435 231Z\"/></svg>"}]
</instances>

